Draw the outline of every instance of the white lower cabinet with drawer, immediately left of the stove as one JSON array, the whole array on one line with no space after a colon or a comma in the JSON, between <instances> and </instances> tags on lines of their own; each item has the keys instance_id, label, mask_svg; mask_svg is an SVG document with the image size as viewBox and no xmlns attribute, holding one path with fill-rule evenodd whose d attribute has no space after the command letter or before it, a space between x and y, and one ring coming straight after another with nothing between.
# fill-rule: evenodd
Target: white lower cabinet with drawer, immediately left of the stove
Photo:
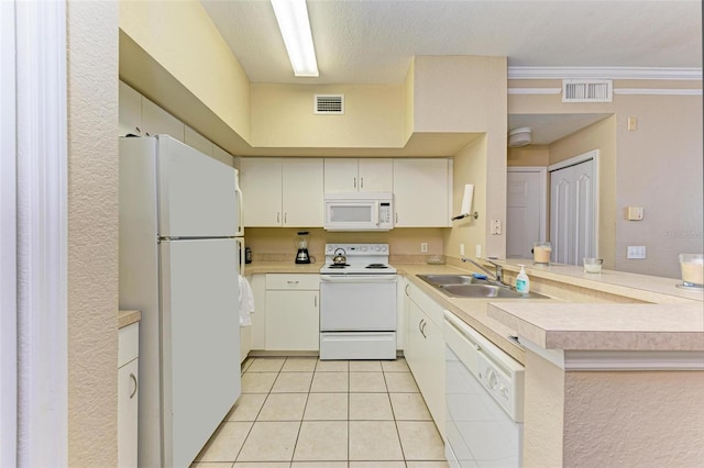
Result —
<instances>
[{"instance_id":1,"label":"white lower cabinet with drawer, immediately left of the stove","mask_svg":"<svg viewBox=\"0 0 704 468\"><path fill-rule=\"evenodd\" d=\"M266 275L266 350L318 350L318 275Z\"/></svg>"}]
</instances>

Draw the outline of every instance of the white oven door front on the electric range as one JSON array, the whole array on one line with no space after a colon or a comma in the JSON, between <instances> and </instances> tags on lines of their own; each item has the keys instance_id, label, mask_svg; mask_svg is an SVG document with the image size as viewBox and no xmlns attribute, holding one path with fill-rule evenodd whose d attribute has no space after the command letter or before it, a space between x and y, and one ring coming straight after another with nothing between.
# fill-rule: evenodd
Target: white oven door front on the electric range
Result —
<instances>
[{"instance_id":1,"label":"white oven door front on the electric range","mask_svg":"<svg viewBox=\"0 0 704 468\"><path fill-rule=\"evenodd\" d=\"M321 281L320 330L395 331L396 281Z\"/></svg>"}]
</instances>

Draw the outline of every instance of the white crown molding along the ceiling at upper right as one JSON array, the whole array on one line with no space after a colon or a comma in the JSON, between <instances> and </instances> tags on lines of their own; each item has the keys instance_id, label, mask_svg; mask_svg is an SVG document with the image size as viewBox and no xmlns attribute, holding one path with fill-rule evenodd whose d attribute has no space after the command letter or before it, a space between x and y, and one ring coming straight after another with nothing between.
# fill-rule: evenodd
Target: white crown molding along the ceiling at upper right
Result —
<instances>
[{"instance_id":1,"label":"white crown molding along the ceiling at upper right","mask_svg":"<svg viewBox=\"0 0 704 468\"><path fill-rule=\"evenodd\" d=\"M659 67L508 67L508 79L701 80L702 68Z\"/></svg>"}]
</instances>

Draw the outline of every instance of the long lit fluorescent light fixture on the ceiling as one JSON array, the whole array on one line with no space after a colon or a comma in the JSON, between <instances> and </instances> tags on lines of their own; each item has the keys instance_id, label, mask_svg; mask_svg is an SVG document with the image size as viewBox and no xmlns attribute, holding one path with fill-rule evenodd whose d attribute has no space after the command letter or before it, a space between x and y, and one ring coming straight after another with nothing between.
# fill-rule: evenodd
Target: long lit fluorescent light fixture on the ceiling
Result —
<instances>
[{"instance_id":1,"label":"long lit fluorescent light fixture on the ceiling","mask_svg":"<svg viewBox=\"0 0 704 468\"><path fill-rule=\"evenodd\" d=\"M294 75L319 76L306 0L272 0L272 7L286 44Z\"/></svg>"}]
</instances>

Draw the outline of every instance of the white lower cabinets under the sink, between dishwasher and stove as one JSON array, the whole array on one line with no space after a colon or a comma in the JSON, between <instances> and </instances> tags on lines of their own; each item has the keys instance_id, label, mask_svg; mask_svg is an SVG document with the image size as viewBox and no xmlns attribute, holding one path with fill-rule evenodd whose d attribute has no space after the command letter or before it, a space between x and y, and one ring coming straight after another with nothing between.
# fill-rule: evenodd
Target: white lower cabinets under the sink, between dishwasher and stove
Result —
<instances>
[{"instance_id":1,"label":"white lower cabinets under the sink, between dishwasher and stove","mask_svg":"<svg viewBox=\"0 0 704 468\"><path fill-rule=\"evenodd\" d=\"M442 308L414 285L406 288L404 356L441 435L446 420Z\"/></svg>"}]
</instances>

